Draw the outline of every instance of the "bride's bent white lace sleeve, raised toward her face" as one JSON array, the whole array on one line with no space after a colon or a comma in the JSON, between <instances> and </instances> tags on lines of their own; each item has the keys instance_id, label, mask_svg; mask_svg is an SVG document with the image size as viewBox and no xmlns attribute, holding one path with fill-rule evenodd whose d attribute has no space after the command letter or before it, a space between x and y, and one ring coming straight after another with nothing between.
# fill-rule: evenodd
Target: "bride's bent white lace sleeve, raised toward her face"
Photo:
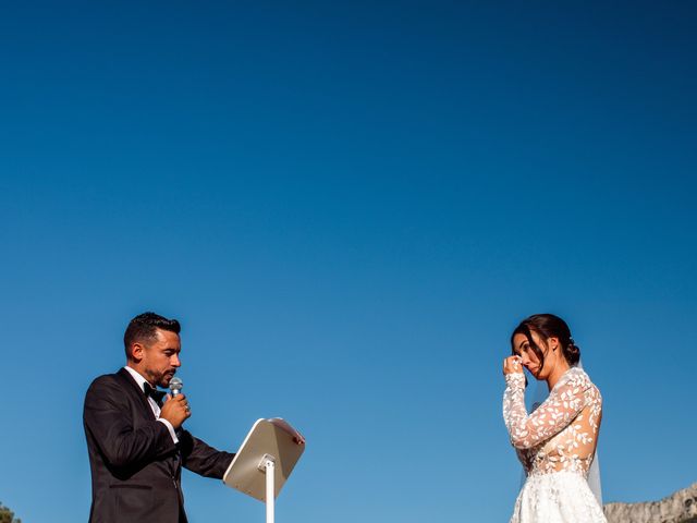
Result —
<instances>
[{"instance_id":1,"label":"bride's bent white lace sleeve, raised toward her face","mask_svg":"<svg viewBox=\"0 0 697 523\"><path fill-rule=\"evenodd\" d=\"M590 386L583 373L570 370L549 398L528 415L525 409L525 376L508 374L503 393L503 419L517 449L537 447L559 434L585 406L584 391Z\"/></svg>"}]
</instances>

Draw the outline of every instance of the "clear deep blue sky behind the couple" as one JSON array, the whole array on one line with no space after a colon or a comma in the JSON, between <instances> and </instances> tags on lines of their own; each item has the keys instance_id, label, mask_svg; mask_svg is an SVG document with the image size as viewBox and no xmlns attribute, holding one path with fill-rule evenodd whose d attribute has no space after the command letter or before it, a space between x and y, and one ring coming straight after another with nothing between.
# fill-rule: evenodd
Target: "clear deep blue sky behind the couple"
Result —
<instances>
[{"instance_id":1,"label":"clear deep blue sky behind the couple","mask_svg":"<svg viewBox=\"0 0 697 523\"><path fill-rule=\"evenodd\" d=\"M149 309L194 434L305 433L279 521L508 521L538 312L603 393L606 500L695 482L695 3L292 3L0 8L0 501L86 521L84 392Z\"/></svg>"}]
</instances>

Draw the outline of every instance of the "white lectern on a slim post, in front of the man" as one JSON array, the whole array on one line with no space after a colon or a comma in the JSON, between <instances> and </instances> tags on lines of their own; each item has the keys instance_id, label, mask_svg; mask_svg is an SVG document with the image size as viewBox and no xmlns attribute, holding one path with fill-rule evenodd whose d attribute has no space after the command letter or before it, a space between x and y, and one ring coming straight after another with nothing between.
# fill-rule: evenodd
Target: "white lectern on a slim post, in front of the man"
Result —
<instances>
[{"instance_id":1,"label":"white lectern on a slim post, in front of the man","mask_svg":"<svg viewBox=\"0 0 697 523\"><path fill-rule=\"evenodd\" d=\"M266 501L267 523L273 523L276 498L305 450L289 429L279 418L257 419L222 478L229 487Z\"/></svg>"}]
</instances>

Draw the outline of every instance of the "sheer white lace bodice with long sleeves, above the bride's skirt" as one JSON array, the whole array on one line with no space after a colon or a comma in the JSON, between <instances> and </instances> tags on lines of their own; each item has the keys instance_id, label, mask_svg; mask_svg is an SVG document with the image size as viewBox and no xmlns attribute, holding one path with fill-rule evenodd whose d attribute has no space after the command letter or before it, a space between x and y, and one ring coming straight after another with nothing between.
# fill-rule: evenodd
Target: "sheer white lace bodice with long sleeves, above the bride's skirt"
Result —
<instances>
[{"instance_id":1,"label":"sheer white lace bodice with long sleeves, above the bride's skirt","mask_svg":"<svg viewBox=\"0 0 697 523\"><path fill-rule=\"evenodd\" d=\"M588 474L598 443L602 398L588 375L570 368L533 413L525 409L525 376L505 375L503 419L528 475Z\"/></svg>"}]
</instances>

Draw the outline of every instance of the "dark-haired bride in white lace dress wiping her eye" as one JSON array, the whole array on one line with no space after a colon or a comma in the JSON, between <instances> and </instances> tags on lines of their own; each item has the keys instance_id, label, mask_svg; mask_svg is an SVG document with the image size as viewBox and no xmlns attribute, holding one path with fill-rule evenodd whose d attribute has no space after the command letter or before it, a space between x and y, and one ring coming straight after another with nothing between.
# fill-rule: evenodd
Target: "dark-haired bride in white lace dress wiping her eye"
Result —
<instances>
[{"instance_id":1,"label":"dark-haired bride in white lace dress wiping her eye","mask_svg":"<svg viewBox=\"0 0 697 523\"><path fill-rule=\"evenodd\" d=\"M602 398L577 366L580 351L566 323L552 314L523 320L503 361L503 418L526 472L511 523L607 523L586 481L598 446ZM526 367L550 393L525 409Z\"/></svg>"}]
</instances>

